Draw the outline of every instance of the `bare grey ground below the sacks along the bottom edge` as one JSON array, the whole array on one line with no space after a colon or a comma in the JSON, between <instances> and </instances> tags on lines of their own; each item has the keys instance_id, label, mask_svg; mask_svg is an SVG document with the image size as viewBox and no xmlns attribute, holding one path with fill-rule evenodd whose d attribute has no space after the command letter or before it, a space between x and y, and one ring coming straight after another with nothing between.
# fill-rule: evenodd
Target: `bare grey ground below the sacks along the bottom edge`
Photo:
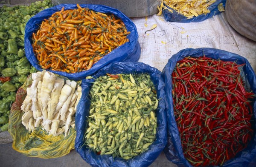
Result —
<instances>
[{"instance_id":1,"label":"bare grey ground below the sacks along the bottom edge","mask_svg":"<svg viewBox=\"0 0 256 167\"><path fill-rule=\"evenodd\" d=\"M12 143L0 144L0 167L90 167L81 156L72 150L56 159L39 159L24 156L12 149ZM166 159L162 152L149 167L177 167Z\"/></svg>"}]
</instances>

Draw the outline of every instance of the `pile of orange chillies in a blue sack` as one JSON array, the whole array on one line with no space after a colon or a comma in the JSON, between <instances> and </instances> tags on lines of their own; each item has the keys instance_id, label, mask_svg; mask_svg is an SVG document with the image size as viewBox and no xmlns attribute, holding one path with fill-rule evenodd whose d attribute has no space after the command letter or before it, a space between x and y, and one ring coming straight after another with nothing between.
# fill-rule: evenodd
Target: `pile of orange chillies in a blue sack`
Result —
<instances>
[{"instance_id":1,"label":"pile of orange chillies in a blue sack","mask_svg":"<svg viewBox=\"0 0 256 167\"><path fill-rule=\"evenodd\" d=\"M88 8L55 12L33 33L32 44L44 69L76 73L90 69L113 49L128 42L125 24L111 14Z\"/></svg>"}]
</instances>

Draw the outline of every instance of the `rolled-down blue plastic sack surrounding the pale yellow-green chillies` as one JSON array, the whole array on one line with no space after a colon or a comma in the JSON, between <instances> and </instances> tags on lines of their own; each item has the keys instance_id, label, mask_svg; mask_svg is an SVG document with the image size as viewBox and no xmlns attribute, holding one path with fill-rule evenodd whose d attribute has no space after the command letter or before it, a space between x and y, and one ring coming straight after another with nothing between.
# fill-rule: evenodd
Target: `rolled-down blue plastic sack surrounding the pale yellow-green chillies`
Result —
<instances>
[{"instance_id":1,"label":"rolled-down blue plastic sack surrounding the pale yellow-green chillies","mask_svg":"<svg viewBox=\"0 0 256 167\"><path fill-rule=\"evenodd\" d=\"M76 151L80 156L93 167L146 167L149 166L166 146L166 111L165 111L165 91L164 82L161 72L156 68L145 65L141 62L117 62L112 63L100 69L93 78L105 76L109 74L130 74L136 72L137 74L148 73L157 90L157 99L160 99L157 109L157 135L156 140L151 144L147 151L135 156L132 159L124 160L119 157L113 158L109 155L96 155L84 144L84 133L87 127L87 116L89 116L90 100L88 99L89 91L94 79L83 79L81 83L82 96L77 106L76 112Z\"/></svg>"}]
</instances>

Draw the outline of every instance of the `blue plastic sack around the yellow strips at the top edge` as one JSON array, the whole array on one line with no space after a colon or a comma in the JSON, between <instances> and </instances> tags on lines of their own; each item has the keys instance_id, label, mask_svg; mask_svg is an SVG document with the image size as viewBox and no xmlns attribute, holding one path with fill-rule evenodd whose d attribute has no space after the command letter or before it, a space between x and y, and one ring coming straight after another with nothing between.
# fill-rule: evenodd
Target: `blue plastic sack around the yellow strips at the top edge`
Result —
<instances>
[{"instance_id":1,"label":"blue plastic sack around the yellow strips at the top edge","mask_svg":"<svg viewBox=\"0 0 256 167\"><path fill-rule=\"evenodd\" d=\"M178 22L178 23L190 23L190 22L201 22L204 20L207 20L211 17L214 17L217 14L220 14L221 12L218 10L218 5L220 3L223 3L223 6L225 8L227 0L217 0L215 3L212 3L211 6L209 6L210 13L207 14L201 14L197 17L192 17L188 19L186 16L179 14L177 11L175 11L173 8L170 8L169 6L166 6L169 9L172 9L173 12L168 11L167 9L163 10L163 17L166 21L169 22Z\"/></svg>"}]
</instances>

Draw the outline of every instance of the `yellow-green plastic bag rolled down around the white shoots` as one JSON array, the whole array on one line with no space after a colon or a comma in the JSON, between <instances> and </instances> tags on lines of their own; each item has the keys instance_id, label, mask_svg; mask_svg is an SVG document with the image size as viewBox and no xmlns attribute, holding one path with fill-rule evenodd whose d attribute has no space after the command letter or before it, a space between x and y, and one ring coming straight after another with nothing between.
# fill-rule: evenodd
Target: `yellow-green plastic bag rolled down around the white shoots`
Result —
<instances>
[{"instance_id":1,"label":"yellow-green plastic bag rolled down around the white shoots","mask_svg":"<svg viewBox=\"0 0 256 167\"><path fill-rule=\"evenodd\" d=\"M39 126L34 132L29 133L21 123L23 115L20 107L26 97L26 88L32 84L31 75L18 89L16 101L12 104L9 116L9 130L13 138L12 148L29 157L52 159L65 156L75 148L76 130L70 128L70 133L64 137L49 135Z\"/></svg>"}]
</instances>

